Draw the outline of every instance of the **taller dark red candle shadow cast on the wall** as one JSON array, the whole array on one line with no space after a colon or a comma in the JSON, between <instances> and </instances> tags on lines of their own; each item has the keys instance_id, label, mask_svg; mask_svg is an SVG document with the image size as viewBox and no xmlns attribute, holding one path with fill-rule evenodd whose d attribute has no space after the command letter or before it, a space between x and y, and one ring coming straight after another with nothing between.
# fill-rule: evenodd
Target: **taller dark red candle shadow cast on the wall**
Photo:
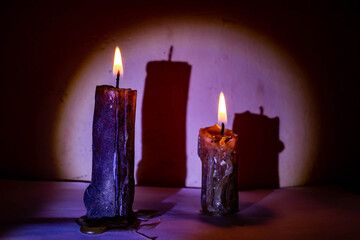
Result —
<instances>
[{"instance_id":1,"label":"taller dark red candle shadow cast on the wall","mask_svg":"<svg viewBox=\"0 0 360 240\"><path fill-rule=\"evenodd\" d=\"M186 108L191 65L152 61L142 108L142 160L138 185L183 187L186 179Z\"/></svg>"}]
</instances>

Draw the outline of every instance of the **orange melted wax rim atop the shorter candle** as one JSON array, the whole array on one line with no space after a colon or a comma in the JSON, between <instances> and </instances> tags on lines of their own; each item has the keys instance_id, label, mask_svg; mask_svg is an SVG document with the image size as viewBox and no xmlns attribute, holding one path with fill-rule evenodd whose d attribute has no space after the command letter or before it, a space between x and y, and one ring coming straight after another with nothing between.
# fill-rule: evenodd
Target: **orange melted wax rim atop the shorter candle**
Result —
<instances>
[{"instance_id":1,"label":"orange melted wax rim atop the shorter candle","mask_svg":"<svg viewBox=\"0 0 360 240\"><path fill-rule=\"evenodd\" d=\"M214 144L220 148L234 148L238 139L238 135L227 128L224 129L224 134L221 135L221 127L217 124L207 128L200 128L199 136L207 144Z\"/></svg>"}]
</instances>

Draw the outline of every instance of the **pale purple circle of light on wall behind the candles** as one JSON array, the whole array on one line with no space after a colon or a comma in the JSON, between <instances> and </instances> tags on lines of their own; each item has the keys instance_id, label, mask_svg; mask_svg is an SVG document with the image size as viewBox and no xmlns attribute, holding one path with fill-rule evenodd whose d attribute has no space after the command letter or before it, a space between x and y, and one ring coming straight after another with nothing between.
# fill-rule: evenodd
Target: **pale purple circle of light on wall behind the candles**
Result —
<instances>
[{"instance_id":1,"label":"pale purple circle of light on wall behind the candles","mask_svg":"<svg viewBox=\"0 0 360 240\"><path fill-rule=\"evenodd\" d=\"M192 65L187 109L187 186L201 184L197 156L200 127L217 122L218 94L226 96L228 124L235 113L251 111L280 119L281 186L303 184L316 161L316 105L310 79L295 59L264 36L221 18L174 18L150 21L104 39L72 78L58 113L54 153L65 179L90 180L91 134L96 85L114 85L114 47L122 52L124 76L120 87L138 90L135 171L141 160L141 109L146 64L166 60L170 45L173 61Z\"/></svg>"}]
</instances>

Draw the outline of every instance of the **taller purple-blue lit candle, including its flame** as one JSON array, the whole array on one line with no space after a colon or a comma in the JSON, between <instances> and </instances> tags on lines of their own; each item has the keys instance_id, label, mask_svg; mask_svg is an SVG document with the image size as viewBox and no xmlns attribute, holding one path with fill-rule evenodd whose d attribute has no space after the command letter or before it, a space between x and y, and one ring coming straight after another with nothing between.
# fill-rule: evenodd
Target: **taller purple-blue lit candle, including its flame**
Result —
<instances>
[{"instance_id":1,"label":"taller purple-blue lit candle, including its flame","mask_svg":"<svg viewBox=\"0 0 360 240\"><path fill-rule=\"evenodd\" d=\"M116 87L97 86L93 120L92 177L84 194L87 217L130 217L134 201L136 90L119 88L120 49L114 57Z\"/></svg>"}]
</instances>

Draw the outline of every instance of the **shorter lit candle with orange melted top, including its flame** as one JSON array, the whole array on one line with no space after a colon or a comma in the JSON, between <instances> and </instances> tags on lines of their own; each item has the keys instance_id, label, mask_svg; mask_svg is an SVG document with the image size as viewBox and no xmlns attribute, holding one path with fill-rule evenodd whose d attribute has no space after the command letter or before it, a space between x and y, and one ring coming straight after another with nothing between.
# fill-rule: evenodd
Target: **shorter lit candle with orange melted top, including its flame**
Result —
<instances>
[{"instance_id":1,"label":"shorter lit candle with orange melted top, including its flame","mask_svg":"<svg viewBox=\"0 0 360 240\"><path fill-rule=\"evenodd\" d=\"M219 97L218 124L200 128L198 155L202 162L201 207L205 215L238 211L236 145L238 136L225 128L224 94Z\"/></svg>"}]
</instances>

